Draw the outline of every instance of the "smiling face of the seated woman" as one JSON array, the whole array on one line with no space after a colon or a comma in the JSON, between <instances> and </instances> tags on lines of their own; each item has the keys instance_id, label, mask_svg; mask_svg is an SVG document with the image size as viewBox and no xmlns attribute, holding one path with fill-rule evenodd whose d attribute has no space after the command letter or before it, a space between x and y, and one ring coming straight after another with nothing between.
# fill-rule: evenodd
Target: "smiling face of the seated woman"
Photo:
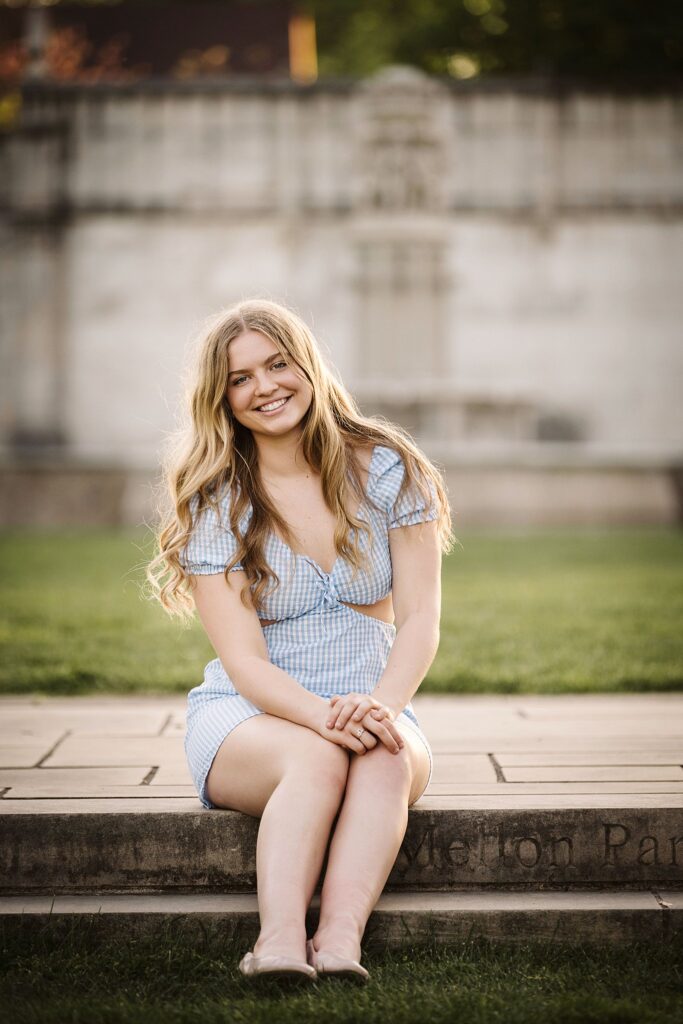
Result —
<instances>
[{"instance_id":1,"label":"smiling face of the seated woman","mask_svg":"<svg viewBox=\"0 0 683 1024\"><path fill-rule=\"evenodd\" d=\"M239 423L271 437L298 430L313 396L298 368L258 331L230 342L226 394Z\"/></svg>"}]
</instances>

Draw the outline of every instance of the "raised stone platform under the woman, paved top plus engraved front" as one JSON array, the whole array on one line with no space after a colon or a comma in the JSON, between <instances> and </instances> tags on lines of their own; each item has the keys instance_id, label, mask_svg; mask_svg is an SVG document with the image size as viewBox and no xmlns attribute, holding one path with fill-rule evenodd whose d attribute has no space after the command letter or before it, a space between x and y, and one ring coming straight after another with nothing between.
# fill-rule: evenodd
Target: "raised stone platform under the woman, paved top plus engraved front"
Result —
<instances>
[{"instance_id":1,"label":"raised stone platform under the woman, paved top plus engraved front","mask_svg":"<svg viewBox=\"0 0 683 1024\"><path fill-rule=\"evenodd\" d=\"M389 888L683 888L683 694L598 696L418 694L434 773ZM4 891L253 886L258 822L201 806L183 715L0 699Z\"/></svg>"}]
</instances>

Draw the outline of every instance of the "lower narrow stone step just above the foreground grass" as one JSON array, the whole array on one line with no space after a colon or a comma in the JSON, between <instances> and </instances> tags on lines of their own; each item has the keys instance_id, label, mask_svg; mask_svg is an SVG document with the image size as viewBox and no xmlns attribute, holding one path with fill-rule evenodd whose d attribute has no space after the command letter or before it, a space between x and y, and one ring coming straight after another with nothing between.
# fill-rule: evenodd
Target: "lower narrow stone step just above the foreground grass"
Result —
<instances>
[{"instance_id":1,"label":"lower narrow stone step just above the foreground grass","mask_svg":"<svg viewBox=\"0 0 683 1024\"><path fill-rule=\"evenodd\" d=\"M307 914L312 934L319 901ZM254 894L153 894L0 898L5 935L32 937L48 929L87 930L91 940L179 934L201 944L214 935L238 938L249 948L258 934ZM61 930L61 931L60 931ZM526 942L671 942L683 938L683 893L640 892L385 892L371 914L364 949L396 948L475 937Z\"/></svg>"}]
</instances>

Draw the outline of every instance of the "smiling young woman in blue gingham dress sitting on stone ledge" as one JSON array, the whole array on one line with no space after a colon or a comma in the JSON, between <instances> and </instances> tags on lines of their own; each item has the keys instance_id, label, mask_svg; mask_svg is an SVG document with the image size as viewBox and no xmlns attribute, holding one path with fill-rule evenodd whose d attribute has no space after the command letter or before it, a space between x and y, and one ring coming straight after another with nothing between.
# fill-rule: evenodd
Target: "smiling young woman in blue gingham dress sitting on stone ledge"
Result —
<instances>
[{"instance_id":1,"label":"smiling young woman in blue gingham dress sitting on stone ledge","mask_svg":"<svg viewBox=\"0 0 683 1024\"><path fill-rule=\"evenodd\" d=\"M365 980L366 923L431 777L411 699L438 646L445 487L274 302L208 325L190 410L148 577L218 655L187 702L200 799L261 819L261 931L240 969Z\"/></svg>"}]
</instances>

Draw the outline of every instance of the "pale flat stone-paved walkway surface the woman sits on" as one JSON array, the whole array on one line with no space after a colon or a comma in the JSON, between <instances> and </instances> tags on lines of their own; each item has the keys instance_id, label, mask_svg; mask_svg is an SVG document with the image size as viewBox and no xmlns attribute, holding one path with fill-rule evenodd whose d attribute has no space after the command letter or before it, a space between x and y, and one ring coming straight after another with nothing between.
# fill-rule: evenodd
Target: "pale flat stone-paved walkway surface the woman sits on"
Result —
<instances>
[{"instance_id":1,"label":"pale flat stone-paved walkway surface the woman sits on","mask_svg":"<svg viewBox=\"0 0 683 1024\"><path fill-rule=\"evenodd\" d=\"M416 807L683 807L683 694L436 696ZM183 697L0 699L3 813L201 807Z\"/></svg>"}]
</instances>

